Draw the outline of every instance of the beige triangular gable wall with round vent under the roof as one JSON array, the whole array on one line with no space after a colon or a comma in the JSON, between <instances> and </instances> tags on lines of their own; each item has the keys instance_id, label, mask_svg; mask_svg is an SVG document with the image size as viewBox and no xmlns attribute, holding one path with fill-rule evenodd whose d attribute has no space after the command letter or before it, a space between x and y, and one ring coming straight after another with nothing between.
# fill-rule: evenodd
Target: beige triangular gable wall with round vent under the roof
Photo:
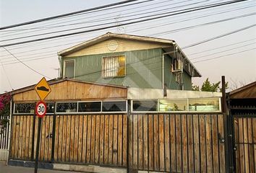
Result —
<instances>
[{"instance_id":1,"label":"beige triangular gable wall with round vent under the roof","mask_svg":"<svg viewBox=\"0 0 256 173\"><path fill-rule=\"evenodd\" d=\"M118 46L116 50L111 51L108 49L108 44L113 40L116 40L116 42L118 43ZM151 49L151 48L165 48L168 46L170 45L167 43L149 43L149 42L142 42L137 40L124 40L120 38L111 38L109 40L105 40L101 43L91 45L88 48L84 48L82 50L79 50L75 53L71 53L64 57L87 56L87 55L95 55L95 54L101 54L101 53L124 52L124 51L130 51L130 50L145 50L145 49Z\"/></svg>"}]
</instances>

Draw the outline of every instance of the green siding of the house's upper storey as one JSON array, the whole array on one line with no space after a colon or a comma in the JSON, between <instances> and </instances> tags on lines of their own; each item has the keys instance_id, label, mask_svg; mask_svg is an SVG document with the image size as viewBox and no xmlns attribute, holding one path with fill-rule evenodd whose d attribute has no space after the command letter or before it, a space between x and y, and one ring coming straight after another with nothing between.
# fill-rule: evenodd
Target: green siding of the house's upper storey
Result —
<instances>
[{"instance_id":1,"label":"green siding of the house's upper storey","mask_svg":"<svg viewBox=\"0 0 256 173\"><path fill-rule=\"evenodd\" d=\"M162 88L162 48L136 50L119 53L104 53L73 58L61 58L62 64L66 59L75 59L75 79L93 81L105 84L132 86L140 88ZM101 60L104 56L125 56L126 75L123 77L101 77ZM174 74L170 71L171 57L165 56L164 82L168 89L179 89ZM191 89L191 77L184 72L184 89Z\"/></svg>"}]
</instances>

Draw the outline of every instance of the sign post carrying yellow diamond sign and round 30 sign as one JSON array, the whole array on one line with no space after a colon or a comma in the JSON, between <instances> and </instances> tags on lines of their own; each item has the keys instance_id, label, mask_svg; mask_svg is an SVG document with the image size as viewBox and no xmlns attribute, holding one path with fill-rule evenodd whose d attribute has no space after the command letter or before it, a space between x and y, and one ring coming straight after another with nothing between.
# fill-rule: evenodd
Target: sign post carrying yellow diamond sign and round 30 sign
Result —
<instances>
[{"instance_id":1,"label":"sign post carrying yellow diamond sign and round 30 sign","mask_svg":"<svg viewBox=\"0 0 256 173\"><path fill-rule=\"evenodd\" d=\"M40 102L35 106L35 113L38 115L38 139L36 141L36 150L35 150L35 173L38 172L38 156L39 156L39 146L40 146L40 132L42 118L46 115L46 103L43 100L50 94L51 88L48 85L45 78L41 79L37 85L35 85L35 92L40 97Z\"/></svg>"}]
</instances>

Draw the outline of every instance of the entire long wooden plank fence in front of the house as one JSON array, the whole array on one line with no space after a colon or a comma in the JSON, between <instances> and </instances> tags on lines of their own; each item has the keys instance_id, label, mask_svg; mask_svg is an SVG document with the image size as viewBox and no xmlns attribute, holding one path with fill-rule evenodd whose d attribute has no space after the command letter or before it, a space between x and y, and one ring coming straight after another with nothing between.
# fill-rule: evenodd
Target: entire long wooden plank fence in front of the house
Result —
<instances>
[{"instance_id":1,"label":"entire long wooden plank fence in front of the house","mask_svg":"<svg viewBox=\"0 0 256 173\"><path fill-rule=\"evenodd\" d=\"M13 115L10 159L35 159L37 129L35 115ZM39 159L129 170L225 172L222 138L221 114L46 115Z\"/></svg>"}]
</instances>

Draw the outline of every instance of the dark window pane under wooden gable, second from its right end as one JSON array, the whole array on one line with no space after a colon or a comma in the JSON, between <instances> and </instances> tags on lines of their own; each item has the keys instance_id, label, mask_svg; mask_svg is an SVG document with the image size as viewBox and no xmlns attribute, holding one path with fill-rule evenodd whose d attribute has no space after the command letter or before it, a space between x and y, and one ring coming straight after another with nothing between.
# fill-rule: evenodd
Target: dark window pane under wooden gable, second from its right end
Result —
<instances>
[{"instance_id":1,"label":"dark window pane under wooden gable, second from its right end","mask_svg":"<svg viewBox=\"0 0 256 173\"><path fill-rule=\"evenodd\" d=\"M101 102L78 102L78 112L101 112Z\"/></svg>"}]
</instances>

